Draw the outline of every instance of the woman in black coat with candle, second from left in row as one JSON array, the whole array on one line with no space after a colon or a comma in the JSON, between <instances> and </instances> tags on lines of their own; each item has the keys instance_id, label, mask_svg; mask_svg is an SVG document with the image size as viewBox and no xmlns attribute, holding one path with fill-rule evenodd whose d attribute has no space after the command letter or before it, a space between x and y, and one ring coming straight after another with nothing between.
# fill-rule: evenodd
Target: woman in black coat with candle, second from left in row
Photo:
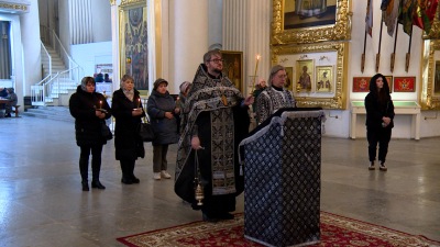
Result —
<instances>
[{"instance_id":1,"label":"woman in black coat with candle, second from left in row","mask_svg":"<svg viewBox=\"0 0 440 247\"><path fill-rule=\"evenodd\" d=\"M144 143L136 132L145 112L142 109L139 91L134 89L134 79L124 75L120 89L113 92L111 111L116 119L114 147L116 158L121 162L122 179L125 184L139 183L134 176L138 157L144 158Z\"/></svg>"}]
</instances>

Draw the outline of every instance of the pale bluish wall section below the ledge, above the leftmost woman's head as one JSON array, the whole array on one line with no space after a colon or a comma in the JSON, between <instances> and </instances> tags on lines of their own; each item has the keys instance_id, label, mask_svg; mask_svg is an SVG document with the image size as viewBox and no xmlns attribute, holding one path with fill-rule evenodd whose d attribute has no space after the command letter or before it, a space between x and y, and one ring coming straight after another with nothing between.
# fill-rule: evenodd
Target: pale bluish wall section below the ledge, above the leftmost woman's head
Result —
<instances>
[{"instance_id":1,"label":"pale bluish wall section below the ledge, above the leftmost woman's head","mask_svg":"<svg viewBox=\"0 0 440 247\"><path fill-rule=\"evenodd\" d=\"M72 58L84 68L84 76L92 77L96 64L112 64L112 42L70 45ZM113 67L114 71L116 67Z\"/></svg>"}]
</instances>

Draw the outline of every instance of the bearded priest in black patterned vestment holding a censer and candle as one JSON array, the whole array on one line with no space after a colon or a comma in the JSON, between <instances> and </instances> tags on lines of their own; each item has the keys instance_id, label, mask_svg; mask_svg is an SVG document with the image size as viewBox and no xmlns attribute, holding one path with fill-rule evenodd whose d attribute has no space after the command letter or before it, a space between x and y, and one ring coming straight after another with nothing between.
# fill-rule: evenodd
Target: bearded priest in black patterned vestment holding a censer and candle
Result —
<instances>
[{"instance_id":1,"label":"bearded priest in black patterned vestment holding a censer and candle","mask_svg":"<svg viewBox=\"0 0 440 247\"><path fill-rule=\"evenodd\" d=\"M176 164L175 192L209 222L232 220L229 212L243 192L237 147L248 134L253 103L222 74L222 61L219 50L210 50L197 69L184 105ZM195 199L198 184L202 205Z\"/></svg>"}]
</instances>

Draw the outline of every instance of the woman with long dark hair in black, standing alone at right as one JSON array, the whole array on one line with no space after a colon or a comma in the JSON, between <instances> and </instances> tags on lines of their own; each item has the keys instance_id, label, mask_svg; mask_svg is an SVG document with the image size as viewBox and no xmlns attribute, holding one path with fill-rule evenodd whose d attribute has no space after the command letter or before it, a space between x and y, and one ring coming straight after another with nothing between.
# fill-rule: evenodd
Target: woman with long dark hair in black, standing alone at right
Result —
<instances>
[{"instance_id":1,"label":"woman with long dark hair in black, standing alone at right","mask_svg":"<svg viewBox=\"0 0 440 247\"><path fill-rule=\"evenodd\" d=\"M369 141L370 170L374 170L378 143L380 169L386 171L386 154L394 127L394 104L386 78L377 74L370 80L370 93L365 97L366 138Z\"/></svg>"}]
</instances>

